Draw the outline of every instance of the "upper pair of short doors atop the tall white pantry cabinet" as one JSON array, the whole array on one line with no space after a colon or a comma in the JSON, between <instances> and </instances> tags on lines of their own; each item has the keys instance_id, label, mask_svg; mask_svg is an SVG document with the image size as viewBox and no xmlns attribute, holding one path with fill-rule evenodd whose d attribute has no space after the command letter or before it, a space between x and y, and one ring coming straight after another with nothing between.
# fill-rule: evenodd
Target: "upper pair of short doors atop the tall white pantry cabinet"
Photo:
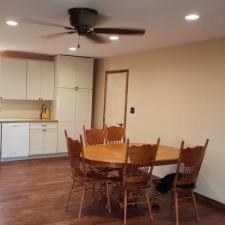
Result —
<instances>
[{"instance_id":1,"label":"upper pair of short doors atop the tall white pantry cabinet","mask_svg":"<svg viewBox=\"0 0 225 225\"><path fill-rule=\"evenodd\" d=\"M57 87L92 89L93 59L60 55L56 64Z\"/></svg>"}]
</instances>

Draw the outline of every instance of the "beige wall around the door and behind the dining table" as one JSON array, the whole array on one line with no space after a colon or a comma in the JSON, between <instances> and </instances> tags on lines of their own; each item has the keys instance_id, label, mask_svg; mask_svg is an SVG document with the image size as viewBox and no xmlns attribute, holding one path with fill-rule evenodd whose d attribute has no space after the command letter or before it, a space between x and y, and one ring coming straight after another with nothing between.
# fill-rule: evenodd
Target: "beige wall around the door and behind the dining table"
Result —
<instances>
[{"instance_id":1,"label":"beige wall around the door and behind the dining table","mask_svg":"<svg viewBox=\"0 0 225 225\"><path fill-rule=\"evenodd\" d=\"M94 126L102 126L106 70L129 69L127 137L131 141L209 147L197 191L225 203L225 39L96 62ZM163 175L173 167L158 167Z\"/></svg>"}]
</instances>

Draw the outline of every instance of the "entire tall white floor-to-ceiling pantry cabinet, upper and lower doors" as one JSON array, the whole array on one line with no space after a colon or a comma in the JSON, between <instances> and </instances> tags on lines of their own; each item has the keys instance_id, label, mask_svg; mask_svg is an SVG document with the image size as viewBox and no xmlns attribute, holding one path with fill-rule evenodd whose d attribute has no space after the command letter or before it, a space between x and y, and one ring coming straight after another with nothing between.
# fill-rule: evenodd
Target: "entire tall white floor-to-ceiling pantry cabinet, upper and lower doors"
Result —
<instances>
[{"instance_id":1,"label":"entire tall white floor-to-ceiling pantry cabinet, upper and lower doors","mask_svg":"<svg viewBox=\"0 0 225 225\"><path fill-rule=\"evenodd\" d=\"M93 59L56 57L56 99L54 119L58 123L58 152L67 152L64 130L79 138L82 127L91 126Z\"/></svg>"}]
</instances>

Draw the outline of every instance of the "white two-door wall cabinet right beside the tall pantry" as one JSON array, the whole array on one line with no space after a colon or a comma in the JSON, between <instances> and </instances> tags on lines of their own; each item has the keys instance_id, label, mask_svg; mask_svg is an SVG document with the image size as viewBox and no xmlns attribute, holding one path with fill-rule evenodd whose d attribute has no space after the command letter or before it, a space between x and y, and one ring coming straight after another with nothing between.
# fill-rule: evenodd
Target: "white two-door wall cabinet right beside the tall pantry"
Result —
<instances>
[{"instance_id":1,"label":"white two-door wall cabinet right beside the tall pantry","mask_svg":"<svg viewBox=\"0 0 225 225\"><path fill-rule=\"evenodd\" d=\"M32 61L27 63L27 99L53 100L54 63Z\"/></svg>"}]
</instances>

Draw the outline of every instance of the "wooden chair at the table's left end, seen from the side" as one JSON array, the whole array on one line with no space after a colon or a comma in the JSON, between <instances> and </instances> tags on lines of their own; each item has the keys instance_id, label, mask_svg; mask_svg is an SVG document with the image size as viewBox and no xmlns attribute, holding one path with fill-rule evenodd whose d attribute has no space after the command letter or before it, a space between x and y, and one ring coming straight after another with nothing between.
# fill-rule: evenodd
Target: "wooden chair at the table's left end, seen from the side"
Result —
<instances>
[{"instance_id":1,"label":"wooden chair at the table's left end, seen from the side","mask_svg":"<svg viewBox=\"0 0 225 225\"><path fill-rule=\"evenodd\" d=\"M80 142L78 140L73 140L72 138L68 137L67 131L65 131L65 136L67 141L68 155L70 159L72 179L73 179L72 186L66 198L65 207L66 208L68 207L68 203L71 198L72 192L77 193L81 191L82 192L81 195L77 194L77 197L80 198L81 200L78 213L78 218L80 218L86 191L88 189L95 190L95 186L97 184L100 187L102 187L102 184L105 184L107 193L107 208L109 212L111 212L109 185L108 185L109 179L94 171L88 171L84 158L82 136L80 136ZM88 188L89 186L91 186L91 188ZM80 188L82 189L80 190Z\"/></svg>"}]
</instances>

